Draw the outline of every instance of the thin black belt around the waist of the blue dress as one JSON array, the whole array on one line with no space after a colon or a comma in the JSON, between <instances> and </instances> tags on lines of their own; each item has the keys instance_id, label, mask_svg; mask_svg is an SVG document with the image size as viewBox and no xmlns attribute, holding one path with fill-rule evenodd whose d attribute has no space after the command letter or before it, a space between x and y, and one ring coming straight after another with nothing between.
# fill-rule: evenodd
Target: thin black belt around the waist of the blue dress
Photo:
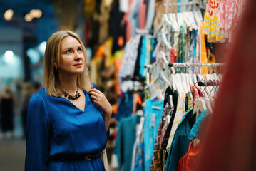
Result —
<instances>
[{"instance_id":1,"label":"thin black belt around the waist of the blue dress","mask_svg":"<svg viewBox=\"0 0 256 171\"><path fill-rule=\"evenodd\" d=\"M102 152L96 155L52 155L47 158L50 161L73 161L73 160L93 160L101 157Z\"/></svg>"}]
</instances>

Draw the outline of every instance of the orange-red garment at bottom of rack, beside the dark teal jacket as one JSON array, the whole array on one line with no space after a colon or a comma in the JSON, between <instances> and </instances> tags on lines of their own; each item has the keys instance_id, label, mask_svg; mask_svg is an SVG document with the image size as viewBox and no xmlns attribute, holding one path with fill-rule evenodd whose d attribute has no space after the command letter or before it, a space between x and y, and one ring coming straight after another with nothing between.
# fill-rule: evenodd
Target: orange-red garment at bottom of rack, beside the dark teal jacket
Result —
<instances>
[{"instance_id":1,"label":"orange-red garment at bottom of rack, beside the dark teal jacket","mask_svg":"<svg viewBox=\"0 0 256 171\"><path fill-rule=\"evenodd\" d=\"M188 152L179 160L178 171L193 171L196 170L198 161L200 160L202 146L199 142L194 147L194 140L190 142Z\"/></svg>"}]
</instances>

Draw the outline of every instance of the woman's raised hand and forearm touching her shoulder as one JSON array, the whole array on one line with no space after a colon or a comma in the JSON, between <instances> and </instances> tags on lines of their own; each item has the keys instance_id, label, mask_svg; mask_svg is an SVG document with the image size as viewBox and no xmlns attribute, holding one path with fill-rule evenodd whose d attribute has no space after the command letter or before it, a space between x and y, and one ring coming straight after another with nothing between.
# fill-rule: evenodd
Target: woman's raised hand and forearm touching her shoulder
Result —
<instances>
[{"instance_id":1,"label":"woman's raised hand and forearm touching her shoulder","mask_svg":"<svg viewBox=\"0 0 256 171\"><path fill-rule=\"evenodd\" d=\"M91 101L96 105L98 105L98 107L101 108L101 110L103 111L103 119L105 122L105 127L106 127L106 130L108 130L108 126L111 121L111 115L112 115L111 104L108 102L108 99L106 98L106 96L96 88L89 90L89 94L91 97Z\"/></svg>"}]
</instances>

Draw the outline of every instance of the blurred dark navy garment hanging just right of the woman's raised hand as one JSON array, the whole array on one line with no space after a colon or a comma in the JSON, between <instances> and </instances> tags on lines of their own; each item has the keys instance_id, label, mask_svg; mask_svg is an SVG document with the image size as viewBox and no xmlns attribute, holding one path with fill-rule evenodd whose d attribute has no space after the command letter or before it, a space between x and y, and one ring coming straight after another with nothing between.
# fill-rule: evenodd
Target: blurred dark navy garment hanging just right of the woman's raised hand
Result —
<instances>
[{"instance_id":1,"label":"blurred dark navy garment hanging just right of the woman's raised hand","mask_svg":"<svg viewBox=\"0 0 256 171\"><path fill-rule=\"evenodd\" d=\"M133 95L130 93L130 90L127 90L120 100L115 118L120 121L130 116L131 113L133 113Z\"/></svg>"}]
</instances>

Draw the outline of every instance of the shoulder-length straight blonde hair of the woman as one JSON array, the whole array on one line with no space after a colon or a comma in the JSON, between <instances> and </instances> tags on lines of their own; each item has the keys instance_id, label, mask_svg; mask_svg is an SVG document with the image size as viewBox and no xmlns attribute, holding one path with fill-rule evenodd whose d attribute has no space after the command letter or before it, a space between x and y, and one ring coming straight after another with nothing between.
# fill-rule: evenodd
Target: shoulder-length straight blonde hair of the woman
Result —
<instances>
[{"instance_id":1,"label":"shoulder-length straight blonde hair of the woman","mask_svg":"<svg viewBox=\"0 0 256 171\"><path fill-rule=\"evenodd\" d=\"M85 63L87 60L86 48L84 47L81 39L76 33L74 33L73 31L57 31L56 33L53 33L46 43L46 51L43 61L43 82L46 87L46 92L48 93L48 95L51 96L53 95L58 97L63 94L63 91L61 90L61 83L58 77L58 69L55 69L53 64L56 63L58 66L58 64L61 62L61 41L67 36L71 36L78 40L78 42L82 46ZM83 73L81 73L77 78L78 88L88 91L91 88L90 83L91 79L89 76L88 68L85 64L85 69Z\"/></svg>"}]
</instances>

